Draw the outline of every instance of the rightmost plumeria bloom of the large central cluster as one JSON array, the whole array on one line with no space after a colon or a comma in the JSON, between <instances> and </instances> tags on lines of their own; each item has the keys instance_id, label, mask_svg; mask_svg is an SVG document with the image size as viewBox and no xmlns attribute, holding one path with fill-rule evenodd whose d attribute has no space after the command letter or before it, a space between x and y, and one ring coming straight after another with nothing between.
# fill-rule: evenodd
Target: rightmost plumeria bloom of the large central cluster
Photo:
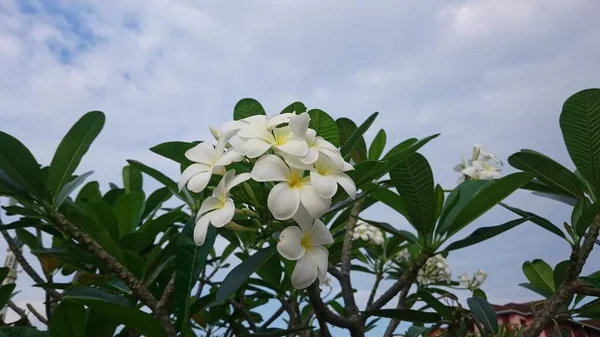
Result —
<instances>
[{"instance_id":1,"label":"rightmost plumeria bloom of the large central cluster","mask_svg":"<svg viewBox=\"0 0 600 337\"><path fill-rule=\"evenodd\" d=\"M310 171L310 182L317 194L323 198L331 198L337 193L337 185L348 193L350 198L356 197L356 185L342 168L325 155L319 156L315 169Z\"/></svg>"}]
</instances>

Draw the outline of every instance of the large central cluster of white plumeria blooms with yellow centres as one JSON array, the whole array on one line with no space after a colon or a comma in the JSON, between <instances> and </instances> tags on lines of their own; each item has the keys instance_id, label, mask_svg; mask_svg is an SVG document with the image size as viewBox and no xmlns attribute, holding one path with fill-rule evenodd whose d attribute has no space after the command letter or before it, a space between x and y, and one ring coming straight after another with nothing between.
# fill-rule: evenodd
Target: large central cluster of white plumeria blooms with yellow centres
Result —
<instances>
[{"instance_id":1,"label":"large central cluster of white plumeria blooms with yellow centres","mask_svg":"<svg viewBox=\"0 0 600 337\"><path fill-rule=\"evenodd\" d=\"M311 285L327 274L328 250L333 243L327 227L319 220L331 206L338 184L352 198L356 186L344 172L353 167L340 151L317 136L308 127L307 113L283 113L229 121L220 128L211 127L217 145L200 143L185 156L194 162L179 180L192 192L202 192L213 174L223 175L213 195L201 205L196 218L194 241L202 245L208 225L223 227L235 214L229 191L249 179L276 182L267 198L267 206L277 220L293 219L298 226L285 228L279 235L277 250L289 260L297 260L292 284L298 289ZM251 173L235 175L226 170L234 162L256 159ZM308 171L308 173L306 173Z\"/></svg>"}]
</instances>

